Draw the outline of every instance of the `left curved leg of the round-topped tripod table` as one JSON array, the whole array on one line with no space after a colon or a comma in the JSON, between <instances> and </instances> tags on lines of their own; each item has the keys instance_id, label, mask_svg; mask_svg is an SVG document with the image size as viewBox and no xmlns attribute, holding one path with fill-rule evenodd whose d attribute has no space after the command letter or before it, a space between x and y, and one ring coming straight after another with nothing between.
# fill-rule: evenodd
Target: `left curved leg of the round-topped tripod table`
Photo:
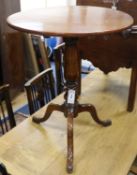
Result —
<instances>
[{"instance_id":1,"label":"left curved leg of the round-topped tripod table","mask_svg":"<svg viewBox=\"0 0 137 175\"><path fill-rule=\"evenodd\" d=\"M64 111L64 105L58 105L58 104L51 103L51 104L48 105L47 110L46 110L46 112L45 112L45 114L42 118L37 118L37 117L33 116L32 121L35 122L35 123L44 122L44 121L48 120L48 118L50 117L50 115L53 111L63 112Z\"/></svg>"}]
</instances>

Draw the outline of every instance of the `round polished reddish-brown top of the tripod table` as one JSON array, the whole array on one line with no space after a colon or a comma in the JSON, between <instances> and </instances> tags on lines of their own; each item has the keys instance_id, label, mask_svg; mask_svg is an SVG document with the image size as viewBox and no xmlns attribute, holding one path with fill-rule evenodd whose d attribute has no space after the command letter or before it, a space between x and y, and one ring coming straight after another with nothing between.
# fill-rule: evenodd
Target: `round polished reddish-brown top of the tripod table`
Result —
<instances>
[{"instance_id":1,"label":"round polished reddish-brown top of the tripod table","mask_svg":"<svg viewBox=\"0 0 137 175\"><path fill-rule=\"evenodd\" d=\"M82 37L121 31L133 24L133 18L109 8L71 6L19 12L9 16L7 22L22 32Z\"/></svg>"}]
</instances>

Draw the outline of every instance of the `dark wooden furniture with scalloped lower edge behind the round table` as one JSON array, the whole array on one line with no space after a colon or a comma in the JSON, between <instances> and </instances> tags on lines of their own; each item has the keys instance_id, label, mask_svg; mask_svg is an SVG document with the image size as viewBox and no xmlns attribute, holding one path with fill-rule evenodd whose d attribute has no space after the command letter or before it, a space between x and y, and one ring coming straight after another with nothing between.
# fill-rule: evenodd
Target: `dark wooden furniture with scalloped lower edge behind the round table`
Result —
<instances>
[{"instance_id":1,"label":"dark wooden furniture with scalloped lower edge behind the round table","mask_svg":"<svg viewBox=\"0 0 137 175\"><path fill-rule=\"evenodd\" d=\"M137 1L114 0L115 9L127 12L134 18L134 26L137 25ZM77 5L92 5L109 7L113 6L113 0L77 0ZM111 35L104 34L81 38L78 47L82 58L88 58L96 67L104 73L116 71L120 67L132 68L127 110L132 111L136 96L137 84L137 27Z\"/></svg>"}]
</instances>

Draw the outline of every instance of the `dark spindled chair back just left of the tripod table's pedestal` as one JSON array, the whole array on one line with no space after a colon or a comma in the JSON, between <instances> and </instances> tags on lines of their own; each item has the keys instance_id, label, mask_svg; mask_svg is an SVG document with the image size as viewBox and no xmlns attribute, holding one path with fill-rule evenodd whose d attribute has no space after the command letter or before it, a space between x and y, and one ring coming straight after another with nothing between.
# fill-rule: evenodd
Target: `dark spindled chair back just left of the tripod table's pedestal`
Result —
<instances>
[{"instance_id":1,"label":"dark spindled chair back just left of the tripod table's pedestal","mask_svg":"<svg viewBox=\"0 0 137 175\"><path fill-rule=\"evenodd\" d=\"M52 69L48 68L25 83L30 114L55 97Z\"/></svg>"}]
</instances>

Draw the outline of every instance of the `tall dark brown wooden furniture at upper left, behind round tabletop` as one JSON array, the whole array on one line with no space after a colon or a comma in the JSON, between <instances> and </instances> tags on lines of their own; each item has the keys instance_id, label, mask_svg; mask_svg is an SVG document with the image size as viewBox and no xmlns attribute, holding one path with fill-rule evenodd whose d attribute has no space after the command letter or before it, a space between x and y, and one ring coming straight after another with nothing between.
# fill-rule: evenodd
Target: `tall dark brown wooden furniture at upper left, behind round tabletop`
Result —
<instances>
[{"instance_id":1,"label":"tall dark brown wooden furniture at upper left, behind round tabletop","mask_svg":"<svg viewBox=\"0 0 137 175\"><path fill-rule=\"evenodd\" d=\"M7 25L6 19L18 11L19 0L0 1L0 84L9 83L10 89L15 91L24 85L23 40L20 32Z\"/></svg>"}]
</instances>

